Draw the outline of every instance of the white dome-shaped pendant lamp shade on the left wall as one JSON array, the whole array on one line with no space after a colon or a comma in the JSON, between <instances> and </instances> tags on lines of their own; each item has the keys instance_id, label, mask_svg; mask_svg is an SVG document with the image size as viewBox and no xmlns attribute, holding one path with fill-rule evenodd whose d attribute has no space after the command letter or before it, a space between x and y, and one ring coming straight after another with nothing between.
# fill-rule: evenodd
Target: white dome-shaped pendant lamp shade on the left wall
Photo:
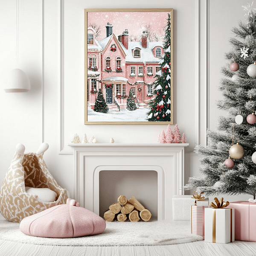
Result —
<instances>
[{"instance_id":1,"label":"white dome-shaped pendant lamp shade on the left wall","mask_svg":"<svg viewBox=\"0 0 256 256\"><path fill-rule=\"evenodd\" d=\"M24 93L30 88L30 81L26 73L16 68L10 72L9 82L4 90L6 93Z\"/></svg>"}]
</instances>

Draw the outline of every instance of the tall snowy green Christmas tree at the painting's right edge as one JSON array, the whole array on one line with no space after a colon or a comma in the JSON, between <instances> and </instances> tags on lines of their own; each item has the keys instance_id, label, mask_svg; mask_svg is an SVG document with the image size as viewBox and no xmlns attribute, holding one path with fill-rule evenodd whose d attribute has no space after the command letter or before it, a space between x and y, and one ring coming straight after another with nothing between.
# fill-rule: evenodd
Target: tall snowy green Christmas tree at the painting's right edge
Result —
<instances>
[{"instance_id":1,"label":"tall snowy green Christmas tree at the painting's right edge","mask_svg":"<svg viewBox=\"0 0 256 256\"><path fill-rule=\"evenodd\" d=\"M148 121L171 121L171 16L168 14L165 26L164 55L162 56L158 71L153 83L154 98L150 100Z\"/></svg>"}]
</instances>

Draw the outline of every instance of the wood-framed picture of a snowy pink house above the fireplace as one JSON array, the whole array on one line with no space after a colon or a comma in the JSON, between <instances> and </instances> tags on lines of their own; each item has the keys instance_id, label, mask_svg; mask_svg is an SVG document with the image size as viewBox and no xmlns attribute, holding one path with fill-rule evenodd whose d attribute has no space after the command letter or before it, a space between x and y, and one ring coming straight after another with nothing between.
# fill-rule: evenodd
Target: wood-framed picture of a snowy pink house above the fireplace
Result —
<instances>
[{"instance_id":1,"label":"wood-framed picture of a snowy pink house above the fireplace","mask_svg":"<svg viewBox=\"0 0 256 256\"><path fill-rule=\"evenodd\" d=\"M173 9L84 9L85 124L173 124Z\"/></svg>"}]
</instances>

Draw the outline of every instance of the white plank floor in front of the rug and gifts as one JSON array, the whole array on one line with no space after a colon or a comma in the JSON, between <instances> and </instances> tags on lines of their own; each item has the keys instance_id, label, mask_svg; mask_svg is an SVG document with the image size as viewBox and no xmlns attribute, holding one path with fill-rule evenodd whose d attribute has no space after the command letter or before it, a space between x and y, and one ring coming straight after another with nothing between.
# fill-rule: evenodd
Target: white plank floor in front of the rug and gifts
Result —
<instances>
[{"instance_id":1,"label":"white plank floor in front of the rug and gifts","mask_svg":"<svg viewBox=\"0 0 256 256\"><path fill-rule=\"evenodd\" d=\"M0 256L256 256L256 242L204 241L164 246L84 247L22 244L0 240Z\"/></svg>"}]
</instances>

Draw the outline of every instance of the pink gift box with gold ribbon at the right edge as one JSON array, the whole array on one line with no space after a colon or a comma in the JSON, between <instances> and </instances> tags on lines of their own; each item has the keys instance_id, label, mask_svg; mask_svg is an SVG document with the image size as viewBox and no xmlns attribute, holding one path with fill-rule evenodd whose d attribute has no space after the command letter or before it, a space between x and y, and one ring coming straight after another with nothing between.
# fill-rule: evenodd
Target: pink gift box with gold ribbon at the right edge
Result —
<instances>
[{"instance_id":1,"label":"pink gift box with gold ribbon at the right edge","mask_svg":"<svg viewBox=\"0 0 256 256\"><path fill-rule=\"evenodd\" d=\"M228 207L235 209L235 239L256 242L256 204L237 201Z\"/></svg>"}]
</instances>

